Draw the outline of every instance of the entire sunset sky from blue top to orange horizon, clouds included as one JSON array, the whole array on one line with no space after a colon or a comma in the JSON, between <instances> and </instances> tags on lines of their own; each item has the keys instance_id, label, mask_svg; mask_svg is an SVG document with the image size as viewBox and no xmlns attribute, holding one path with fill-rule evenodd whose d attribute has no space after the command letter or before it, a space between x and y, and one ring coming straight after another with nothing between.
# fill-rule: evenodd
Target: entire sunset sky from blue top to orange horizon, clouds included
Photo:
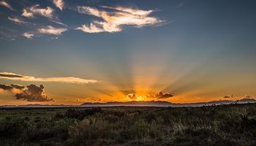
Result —
<instances>
[{"instance_id":1,"label":"entire sunset sky from blue top to orange horizon, clouds included","mask_svg":"<svg viewBox=\"0 0 256 146\"><path fill-rule=\"evenodd\" d=\"M255 98L254 0L0 0L0 104Z\"/></svg>"}]
</instances>

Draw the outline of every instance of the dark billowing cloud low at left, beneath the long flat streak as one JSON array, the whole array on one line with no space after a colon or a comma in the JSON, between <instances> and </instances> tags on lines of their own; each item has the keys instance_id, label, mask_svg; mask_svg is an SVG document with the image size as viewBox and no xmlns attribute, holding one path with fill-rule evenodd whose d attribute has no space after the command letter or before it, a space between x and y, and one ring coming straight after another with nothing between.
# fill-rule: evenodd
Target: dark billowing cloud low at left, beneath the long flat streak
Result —
<instances>
[{"instance_id":1,"label":"dark billowing cloud low at left, beneath the long flat streak","mask_svg":"<svg viewBox=\"0 0 256 146\"><path fill-rule=\"evenodd\" d=\"M17 93L15 97L16 99L26 101L54 101L54 99L50 99L46 96L43 85L28 85L21 93Z\"/></svg>"}]
</instances>

